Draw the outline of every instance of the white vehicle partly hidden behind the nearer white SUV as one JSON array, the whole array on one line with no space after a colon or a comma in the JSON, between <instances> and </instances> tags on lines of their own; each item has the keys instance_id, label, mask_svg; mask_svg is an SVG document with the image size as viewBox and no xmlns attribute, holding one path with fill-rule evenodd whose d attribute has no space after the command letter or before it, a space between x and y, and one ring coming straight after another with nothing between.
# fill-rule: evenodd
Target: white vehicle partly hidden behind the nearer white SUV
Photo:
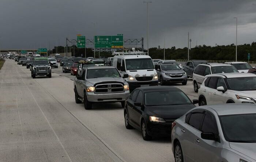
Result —
<instances>
[{"instance_id":1,"label":"white vehicle partly hidden behind the nearer white SUV","mask_svg":"<svg viewBox=\"0 0 256 162\"><path fill-rule=\"evenodd\" d=\"M209 74L238 72L230 64L223 63L203 63L199 64L193 72L194 91L198 92L198 87L202 84L204 77Z\"/></svg>"}]
</instances>

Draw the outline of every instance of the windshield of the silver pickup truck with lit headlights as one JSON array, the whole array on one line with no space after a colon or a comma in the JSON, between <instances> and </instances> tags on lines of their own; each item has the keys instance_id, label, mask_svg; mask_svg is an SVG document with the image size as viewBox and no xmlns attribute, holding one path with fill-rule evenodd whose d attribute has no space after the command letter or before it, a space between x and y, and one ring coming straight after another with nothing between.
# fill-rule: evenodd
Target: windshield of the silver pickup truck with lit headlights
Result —
<instances>
[{"instance_id":1,"label":"windshield of the silver pickup truck with lit headlights","mask_svg":"<svg viewBox=\"0 0 256 162\"><path fill-rule=\"evenodd\" d=\"M98 68L89 69L87 71L87 79L93 78L121 78L119 72L115 68Z\"/></svg>"}]
</instances>

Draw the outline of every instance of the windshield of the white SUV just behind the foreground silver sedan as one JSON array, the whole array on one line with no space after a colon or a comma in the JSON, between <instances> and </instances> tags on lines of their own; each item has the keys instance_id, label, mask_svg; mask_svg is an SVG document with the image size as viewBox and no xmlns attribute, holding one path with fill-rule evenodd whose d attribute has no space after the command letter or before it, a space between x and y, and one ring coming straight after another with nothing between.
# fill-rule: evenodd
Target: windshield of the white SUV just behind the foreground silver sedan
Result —
<instances>
[{"instance_id":1,"label":"windshield of the white SUV just behind the foreground silver sedan","mask_svg":"<svg viewBox=\"0 0 256 162\"><path fill-rule=\"evenodd\" d=\"M229 87L235 91L255 91L256 90L256 76L254 77L240 77L227 78Z\"/></svg>"}]
</instances>

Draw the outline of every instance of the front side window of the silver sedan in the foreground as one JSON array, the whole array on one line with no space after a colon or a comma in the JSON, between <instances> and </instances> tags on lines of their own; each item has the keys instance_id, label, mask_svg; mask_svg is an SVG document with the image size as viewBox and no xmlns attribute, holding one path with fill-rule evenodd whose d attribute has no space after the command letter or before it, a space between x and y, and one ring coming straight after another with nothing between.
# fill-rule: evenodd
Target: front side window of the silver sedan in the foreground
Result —
<instances>
[{"instance_id":1,"label":"front side window of the silver sedan in the foreground","mask_svg":"<svg viewBox=\"0 0 256 162\"><path fill-rule=\"evenodd\" d=\"M206 112L201 130L202 132L219 134L215 117L210 112Z\"/></svg>"}]
</instances>

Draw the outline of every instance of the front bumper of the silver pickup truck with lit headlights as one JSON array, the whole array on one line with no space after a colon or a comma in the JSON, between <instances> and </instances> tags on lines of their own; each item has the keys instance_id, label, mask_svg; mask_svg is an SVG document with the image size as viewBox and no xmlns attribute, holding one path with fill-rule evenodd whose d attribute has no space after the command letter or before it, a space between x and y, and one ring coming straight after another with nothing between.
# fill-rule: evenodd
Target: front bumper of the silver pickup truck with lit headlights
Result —
<instances>
[{"instance_id":1,"label":"front bumper of the silver pickup truck with lit headlights","mask_svg":"<svg viewBox=\"0 0 256 162\"><path fill-rule=\"evenodd\" d=\"M129 91L111 94L95 94L94 92L86 92L89 102L121 102L130 95Z\"/></svg>"}]
</instances>

